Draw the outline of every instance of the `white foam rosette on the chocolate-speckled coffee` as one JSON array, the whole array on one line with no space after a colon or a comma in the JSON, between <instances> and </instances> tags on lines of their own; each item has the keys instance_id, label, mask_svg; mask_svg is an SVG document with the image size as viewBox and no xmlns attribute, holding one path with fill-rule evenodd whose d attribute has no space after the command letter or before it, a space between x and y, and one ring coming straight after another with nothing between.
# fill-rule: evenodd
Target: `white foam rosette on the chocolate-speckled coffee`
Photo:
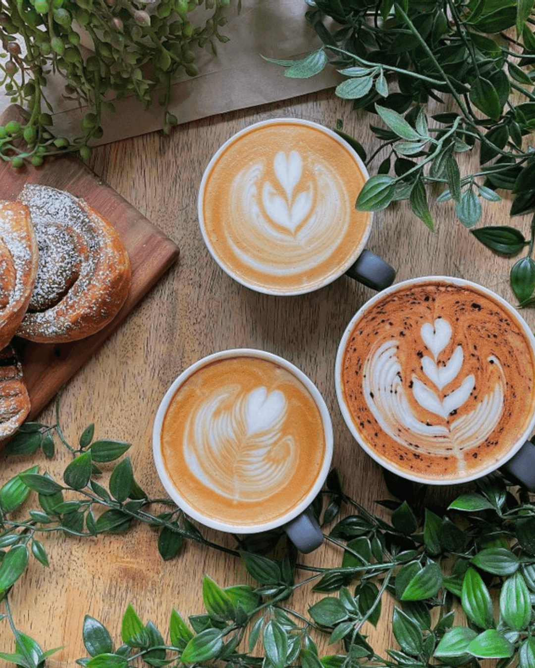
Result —
<instances>
[{"instance_id":1,"label":"white foam rosette on the chocolate-speckled coffee","mask_svg":"<svg viewBox=\"0 0 535 668\"><path fill-rule=\"evenodd\" d=\"M409 386L423 409L422 415L415 414L403 386L401 364L397 359L397 351L403 343L398 340L386 341L366 357L364 397L372 415L393 440L413 452L427 450L435 455L453 455L460 471L464 468L463 450L484 442L500 422L506 386L504 370L498 359L490 355L486 361L498 371L494 387L475 409L458 416L477 383L471 373L463 377L463 347L457 345L447 361L439 361L452 335L451 325L443 318L422 325L420 335L433 355L432 358L423 355L421 369L425 377L413 373ZM450 383L453 389L445 392L444 388ZM428 419L429 413L436 416L435 421Z\"/></svg>"}]
</instances>

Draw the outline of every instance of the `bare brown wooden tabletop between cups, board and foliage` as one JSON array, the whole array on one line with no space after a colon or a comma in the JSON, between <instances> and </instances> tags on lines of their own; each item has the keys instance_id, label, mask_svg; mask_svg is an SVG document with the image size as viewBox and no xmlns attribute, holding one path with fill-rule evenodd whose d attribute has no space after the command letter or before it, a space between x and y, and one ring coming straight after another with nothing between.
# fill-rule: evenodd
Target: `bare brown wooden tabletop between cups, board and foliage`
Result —
<instances>
[{"instance_id":1,"label":"bare brown wooden tabletop between cups, board and foliage","mask_svg":"<svg viewBox=\"0 0 535 668\"><path fill-rule=\"evenodd\" d=\"M131 442L136 479L148 494L161 496L163 488L152 462L151 429L168 385L185 367L209 353L229 347L265 349L286 357L316 383L331 411L333 465L346 492L372 512L381 512L375 500L389 497L381 470L346 429L336 403L333 373L336 347L346 323L372 291L342 277L301 297L256 294L219 269L199 232L197 190L209 158L237 130L277 116L306 118L331 128L341 119L344 130L356 136L369 153L377 146L368 129L370 117L353 112L350 104L328 91L192 122L175 128L169 137L154 133L94 151L90 165L97 174L175 240L181 255L177 265L68 383L61 398L60 420L71 442L91 422L96 425L96 438ZM373 166L370 171L373 173ZM482 224L509 223L510 202L504 196L499 204L483 202ZM430 274L463 277L516 303L508 281L511 261L480 245L457 221L451 202L433 205L431 210L437 222L435 233L411 214L406 202L376 214L368 248L397 269L399 281ZM513 224L527 233L527 218L516 218ZM534 325L534 313L524 315ZM53 408L45 409L39 420L52 424ZM53 460L46 460L41 452L2 456L0 481L33 464L39 464L41 472L61 476L69 461L70 455L59 444ZM224 540L211 530L205 535L217 542ZM223 587L252 582L238 558L198 544L188 544L180 556L164 562L158 555L156 534L147 526L96 538L43 534L42 542L49 554L49 568L30 560L13 591L11 608L17 627L41 647L64 647L51 665L73 665L74 659L86 655L82 643L86 613L100 619L119 641L122 614L132 603L144 623L154 621L167 635L173 607L184 617L204 612L204 574ZM232 546L233 540L227 538L227 544ZM302 560L336 566L340 558L338 548L325 544ZM306 612L312 601L310 589L302 588L292 603ZM384 605L377 629L364 627L376 649L396 646L389 631L390 617ZM3 621L0 651L13 650L13 637Z\"/></svg>"}]
</instances>

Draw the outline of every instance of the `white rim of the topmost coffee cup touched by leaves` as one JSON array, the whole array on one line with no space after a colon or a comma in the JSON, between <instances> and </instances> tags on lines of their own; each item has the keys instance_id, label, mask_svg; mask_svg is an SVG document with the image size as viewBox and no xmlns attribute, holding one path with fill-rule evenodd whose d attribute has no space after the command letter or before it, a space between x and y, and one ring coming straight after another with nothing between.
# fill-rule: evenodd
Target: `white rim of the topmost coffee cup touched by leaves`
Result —
<instances>
[{"instance_id":1,"label":"white rim of the topmost coffee cup touched by leaves","mask_svg":"<svg viewBox=\"0 0 535 668\"><path fill-rule=\"evenodd\" d=\"M373 212L369 211L368 216L369 216L369 222L368 222L368 228L364 232L364 235L362 236L362 240L360 241L360 244L356 246L354 253L350 257L350 260L342 267L340 267L339 271L336 272L334 275L330 275L326 277L324 281L321 283L318 283L317 285L314 285L314 287L309 287L305 289L300 289L300 290L283 290L283 289L270 289L267 287L259 287L253 283L249 283L248 281L245 281L243 277L237 275L235 271L233 271L232 267L229 267L223 261L218 257L217 251L215 250L213 244L211 243L211 240L209 239L209 236L206 233L205 230L205 224L204 224L204 216L203 216L203 198L204 198L204 191L205 191L205 186L206 182L209 176L209 173L211 172L213 165L217 160L219 159L219 156L225 151L227 146L237 140L239 137L241 137L243 134L247 134L253 128L261 128L263 126L270 126L270 125L280 125L280 124L286 124L286 125L304 125L308 126L310 128L316 128L317 130L320 130L324 132L326 135L330 136L332 139L334 139L340 146L342 146L346 151L348 151L351 156L354 158L356 163L358 164L360 170L362 171L362 174L364 176L364 182L366 182L369 178L368 170L366 169L366 166L364 166L364 163L360 159L360 156L358 153L346 142L346 140L342 139L340 135L336 134L333 130L330 130L330 128L325 128L324 126L314 123L314 121L309 121L305 120L303 118L292 118L290 116L284 117L278 117L278 118L270 118L267 120L259 121L258 123L253 123L246 128L243 128L243 130L239 130L239 132L236 132L233 134L231 137L227 139L227 141L224 144L221 144L221 146L217 149L215 154L213 154L210 162L207 165L207 168L203 172L203 178L201 179L201 186L199 188L199 196L197 198L197 218L199 220L199 227L201 228L201 234L203 235L203 240L206 244L206 247L210 251L211 256L213 259L216 261L216 263L223 269L223 271L231 277L231 279L234 279L237 281L237 283L240 283L241 285L244 285L245 287L254 290L257 293L262 293L263 295L275 295L275 296L282 296L282 297L292 297L295 295L306 295L307 293L314 292L316 290L320 290L321 288L325 287L326 285L329 285L330 283L334 283L337 279L344 274L351 265L353 265L358 257L360 256L360 253L364 250L364 246L366 245L366 242L368 241L368 237L370 236L372 224L373 224Z\"/></svg>"}]
</instances>

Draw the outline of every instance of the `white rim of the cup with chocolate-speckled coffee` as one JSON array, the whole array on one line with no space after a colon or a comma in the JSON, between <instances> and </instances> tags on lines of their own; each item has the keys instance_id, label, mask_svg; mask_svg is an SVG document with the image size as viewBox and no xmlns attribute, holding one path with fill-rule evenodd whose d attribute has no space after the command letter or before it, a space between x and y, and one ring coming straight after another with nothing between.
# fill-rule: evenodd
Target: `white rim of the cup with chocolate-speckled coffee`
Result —
<instances>
[{"instance_id":1,"label":"white rim of the cup with chocolate-speckled coffee","mask_svg":"<svg viewBox=\"0 0 535 668\"><path fill-rule=\"evenodd\" d=\"M514 456L514 454L516 454L516 452L518 452L518 450L522 448L526 440L530 438L530 435L532 434L535 428L535 410L528 424L528 427L526 428L526 430L524 430L518 442L512 448L510 448L510 450L498 462L495 462L494 464L488 466L487 468L478 471L476 474L469 474L462 477L445 478L445 479L426 478L425 476L415 475L405 469L402 469L401 467L395 466L389 460L381 458L375 450L372 450L372 448L370 448L370 446L368 446L368 444L364 442L364 440L360 437L358 431L356 430L356 427L351 417L351 413L346 405L344 399L344 393L342 391L342 383L340 379L342 371L342 357L344 356L344 350L346 347L348 337L352 332L352 329L356 321L358 321L358 319L360 319L360 317L362 317L362 315L366 313L368 309L371 309L373 305L375 305L375 303L383 299L386 295L395 293L398 290L403 290L409 285L418 285L419 283L433 283L433 282L436 283L446 282L446 283L451 283L453 285L471 287L476 292L488 295L488 297L497 301L500 305L502 305L502 307L504 307L507 313L510 314L512 319L514 319L518 323L518 325L520 325L520 327L524 331L524 334L526 335L526 340L530 343L532 347L533 355L535 358L535 337L533 335L533 332L528 327L528 324L522 318L522 316L503 297L500 297L500 295L497 295L496 293L492 292L492 290L489 290L488 288L479 285L478 283L473 283L473 281L467 281L466 279L459 279L451 276L422 276L415 279L408 279L407 281L401 281L400 283L395 283L395 285L391 285L387 289L381 291L380 293L372 297L372 299L364 303L364 305L362 305L362 307L358 309L358 311L352 317L350 323L344 330L342 339L340 339L340 344L338 345L338 352L336 353L336 364L334 367L335 369L334 381L336 384L336 397L338 399L338 405L340 406L340 411L342 411L342 416L348 427L348 430L350 430L354 440L356 440L356 442L362 448L362 450L364 450L364 452L366 452L373 460L375 460L383 468L386 468L392 473L395 473L397 476L401 476L401 478L405 478L407 480L412 480L413 482L422 482L423 484L437 485L437 486L452 485L452 484L456 485L456 484L463 484L465 482L470 482L471 480L476 480L477 478L482 478L483 476L486 476L492 471L495 471L496 469L500 468L500 466L503 466L508 460L510 460L510 458L512 458L512 456Z\"/></svg>"}]
</instances>

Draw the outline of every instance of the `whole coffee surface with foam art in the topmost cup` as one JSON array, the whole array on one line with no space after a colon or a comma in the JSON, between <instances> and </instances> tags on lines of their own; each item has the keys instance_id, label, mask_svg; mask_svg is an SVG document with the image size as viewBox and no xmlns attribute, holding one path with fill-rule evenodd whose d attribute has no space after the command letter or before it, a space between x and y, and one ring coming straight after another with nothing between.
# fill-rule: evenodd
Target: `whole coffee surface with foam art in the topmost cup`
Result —
<instances>
[{"instance_id":1,"label":"whole coffee surface with foam art in the topmost cup","mask_svg":"<svg viewBox=\"0 0 535 668\"><path fill-rule=\"evenodd\" d=\"M211 252L238 281L298 293L356 260L371 217L355 209L364 176L349 148L313 126L284 122L230 141L205 176Z\"/></svg>"}]
</instances>

